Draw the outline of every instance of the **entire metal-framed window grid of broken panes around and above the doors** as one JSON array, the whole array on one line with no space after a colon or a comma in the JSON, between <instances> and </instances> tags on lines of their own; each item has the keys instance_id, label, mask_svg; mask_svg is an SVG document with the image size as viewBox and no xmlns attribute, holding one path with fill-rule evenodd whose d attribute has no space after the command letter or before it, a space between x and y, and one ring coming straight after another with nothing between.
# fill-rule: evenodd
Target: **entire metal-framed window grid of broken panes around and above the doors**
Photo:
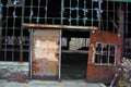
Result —
<instances>
[{"instance_id":1,"label":"entire metal-framed window grid of broken panes around and above the doors","mask_svg":"<svg viewBox=\"0 0 131 87\"><path fill-rule=\"evenodd\" d=\"M23 23L97 26L99 30L118 33L119 4L124 5L124 30L121 34L124 38L123 45L126 45L124 40L131 38L131 18L129 16L131 2L111 0L0 0L1 60L28 61L29 32L22 27ZM130 58L130 47L123 47L123 55Z\"/></svg>"}]
</instances>

